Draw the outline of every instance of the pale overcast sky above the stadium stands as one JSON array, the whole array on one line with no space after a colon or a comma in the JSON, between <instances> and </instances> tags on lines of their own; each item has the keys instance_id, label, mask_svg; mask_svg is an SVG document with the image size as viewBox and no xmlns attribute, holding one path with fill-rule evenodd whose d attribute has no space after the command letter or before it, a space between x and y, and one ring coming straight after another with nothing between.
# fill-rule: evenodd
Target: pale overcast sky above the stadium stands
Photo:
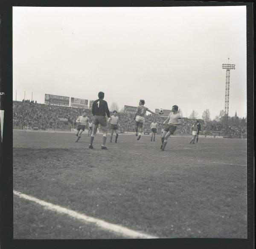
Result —
<instances>
[{"instance_id":1,"label":"pale overcast sky above the stadium stands","mask_svg":"<svg viewBox=\"0 0 256 249\"><path fill-rule=\"evenodd\" d=\"M13 7L13 100L44 94L247 114L246 6Z\"/></svg>"}]
</instances>

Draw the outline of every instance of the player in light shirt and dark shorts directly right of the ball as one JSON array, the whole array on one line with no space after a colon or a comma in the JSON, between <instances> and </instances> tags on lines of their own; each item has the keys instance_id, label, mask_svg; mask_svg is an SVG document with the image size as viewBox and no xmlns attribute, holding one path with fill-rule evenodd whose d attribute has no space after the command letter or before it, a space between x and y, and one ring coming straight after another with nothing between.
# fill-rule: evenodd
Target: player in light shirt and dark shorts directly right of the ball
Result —
<instances>
[{"instance_id":1,"label":"player in light shirt and dark shorts directly right of the ball","mask_svg":"<svg viewBox=\"0 0 256 249\"><path fill-rule=\"evenodd\" d=\"M176 131L177 126L181 125L181 117L180 114L178 113L178 106L172 106L172 112L169 114L168 118L163 122L163 124L165 123L167 124L161 136L161 151L164 151L169 136Z\"/></svg>"}]
</instances>

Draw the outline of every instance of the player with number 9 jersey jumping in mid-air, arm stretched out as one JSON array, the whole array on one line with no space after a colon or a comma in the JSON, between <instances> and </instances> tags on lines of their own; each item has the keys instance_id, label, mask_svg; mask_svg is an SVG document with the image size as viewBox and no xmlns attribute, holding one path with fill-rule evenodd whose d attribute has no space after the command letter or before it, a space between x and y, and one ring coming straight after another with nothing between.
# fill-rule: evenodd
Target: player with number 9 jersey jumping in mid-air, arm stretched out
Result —
<instances>
[{"instance_id":1,"label":"player with number 9 jersey jumping in mid-air, arm stretched out","mask_svg":"<svg viewBox=\"0 0 256 249\"><path fill-rule=\"evenodd\" d=\"M138 128L140 128L139 137L137 138L137 140L140 140L140 137L142 134L142 126L143 126L143 123L145 122L146 112L148 111L148 112L151 112L152 114L159 115L150 111L148 107L144 106L144 104L145 104L145 100L140 100L139 106L137 107L136 112L134 114L134 120L136 120L135 136L138 136Z\"/></svg>"}]
</instances>

